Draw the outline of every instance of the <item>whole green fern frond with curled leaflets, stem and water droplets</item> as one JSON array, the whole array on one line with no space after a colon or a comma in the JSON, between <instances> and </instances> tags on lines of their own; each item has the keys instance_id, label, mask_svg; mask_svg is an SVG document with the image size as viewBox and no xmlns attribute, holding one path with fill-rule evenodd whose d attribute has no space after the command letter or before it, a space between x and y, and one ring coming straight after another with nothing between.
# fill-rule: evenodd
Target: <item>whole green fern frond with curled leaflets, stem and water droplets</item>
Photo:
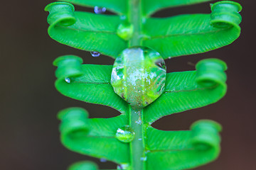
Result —
<instances>
[{"instance_id":1,"label":"whole green fern frond with curled leaflets, stem and water droplets","mask_svg":"<svg viewBox=\"0 0 256 170\"><path fill-rule=\"evenodd\" d=\"M82 108L60 111L65 147L127 170L192 169L218 157L218 123L199 120L191 130L181 131L151 127L159 118L207 106L225 95L225 62L207 59L196 64L196 71L165 74L162 61L233 42L240 35L240 4L220 1L211 5L210 14L151 17L162 8L205 1L209 0L65 0L46 6L51 38L116 59L114 67L82 64L73 55L54 61L55 87L61 94L120 112L115 118L88 118ZM75 11L68 2L106 7L117 15ZM161 84L164 88L159 88ZM82 169L97 166L90 162L70 166Z\"/></svg>"}]
</instances>

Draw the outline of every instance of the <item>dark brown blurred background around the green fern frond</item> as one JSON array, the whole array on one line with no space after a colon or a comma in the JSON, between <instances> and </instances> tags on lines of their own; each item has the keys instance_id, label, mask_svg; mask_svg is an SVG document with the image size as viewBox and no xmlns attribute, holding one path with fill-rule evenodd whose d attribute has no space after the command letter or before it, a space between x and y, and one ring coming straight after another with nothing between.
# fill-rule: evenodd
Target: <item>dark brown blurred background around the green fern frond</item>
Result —
<instances>
[{"instance_id":1,"label":"dark brown blurred background around the green fern frond","mask_svg":"<svg viewBox=\"0 0 256 170\"><path fill-rule=\"evenodd\" d=\"M93 1L93 0L92 0ZM75 101L55 90L55 67L60 55L78 55L87 64L112 64L110 57L91 57L51 40L47 34L48 13L43 8L52 1L1 1L1 113L0 169L66 169L68 165L92 159L101 169L114 168L111 162L85 157L65 149L59 140L56 113L63 108L81 106L91 118L118 115L106 106ZM162 130L185 130L199 119L216 120L223 125L222 153L217 161L197 169L256 169L256 90L255 90L255 1L238 1L242 33L232 45L200 55L166 61L169 72L194 69L206 57L217 57L228 64L228 93L218 103L193 111L169 115L154 123ZM155 16L180 13L210 13L209 3L172 8ZM76 6L77 7L77 6ZM79 10L91 8L77 7Z\"/></svg>"}]
</instances>

